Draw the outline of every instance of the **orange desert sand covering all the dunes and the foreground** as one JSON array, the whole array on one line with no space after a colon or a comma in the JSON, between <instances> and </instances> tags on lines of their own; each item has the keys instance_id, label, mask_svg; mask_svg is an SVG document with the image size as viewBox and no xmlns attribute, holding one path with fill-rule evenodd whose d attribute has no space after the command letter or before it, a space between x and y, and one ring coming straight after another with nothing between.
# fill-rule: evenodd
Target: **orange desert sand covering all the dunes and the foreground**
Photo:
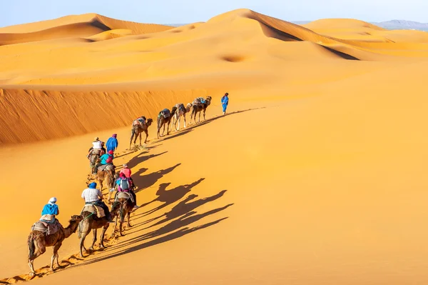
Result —
<instances>
[{"instance_id":1,"label":"orange desert sand covering all the dunes and the foreground","mask_svg":"<svg viewBox=\"0 0 428 285\"><path fill-rule=\"evenodd\" d=\"M73 234L65 268L41 268L49 248L31 283L428 282L427 33L245 9L177 28L86 14L0 33L2 185L24 197L3 204L2 282L28 279L26 236L49 197L62 224L80 212L86 151L113 133L140 187L133 228L84 260ZM155 124L147 149L128 150L136 116L207 95L205 123L160 141Z\"/></svg>"}]
</instances>

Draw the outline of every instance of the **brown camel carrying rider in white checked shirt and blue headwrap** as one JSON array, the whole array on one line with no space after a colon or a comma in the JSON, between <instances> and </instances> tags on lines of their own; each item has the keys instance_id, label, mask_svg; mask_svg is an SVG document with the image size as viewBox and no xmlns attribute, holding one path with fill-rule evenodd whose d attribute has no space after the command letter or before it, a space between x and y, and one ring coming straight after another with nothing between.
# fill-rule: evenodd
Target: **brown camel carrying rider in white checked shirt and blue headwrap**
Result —
<instances>
[{"instance_id":1,"label":"brown camel carrying rider in white checked shirt and blue headwrap","mask_svg":"<svg viewBox=\"0 0 428 285\"><path fill-rule=\"evenodd\" d=\"M117 215L117 212L118 212L118 207L116 207L116 209L113 209L112 207L110 211L111 219L114 219L114 217ZM100 228L103 228L103 231L101 232L101 236L100 236L100 239L101 239L100 247L101 249L106 248L106 246L104 246L104 234L106 234L108 226L110 226L110 223L108 222L106 216L103 216L102 218L98 218L96 214L93 214L90 211L83 211L82 216L83 216L83 220L78 225L78 238L80 239L80 247L79 247L80 256L84 257L82 249L87 251L85 248L85 239L91 230L93 234L93 241L89 249L93 250L93 246L96 242L97 229L100 229Z\"/></svg>"}]
</instances>

